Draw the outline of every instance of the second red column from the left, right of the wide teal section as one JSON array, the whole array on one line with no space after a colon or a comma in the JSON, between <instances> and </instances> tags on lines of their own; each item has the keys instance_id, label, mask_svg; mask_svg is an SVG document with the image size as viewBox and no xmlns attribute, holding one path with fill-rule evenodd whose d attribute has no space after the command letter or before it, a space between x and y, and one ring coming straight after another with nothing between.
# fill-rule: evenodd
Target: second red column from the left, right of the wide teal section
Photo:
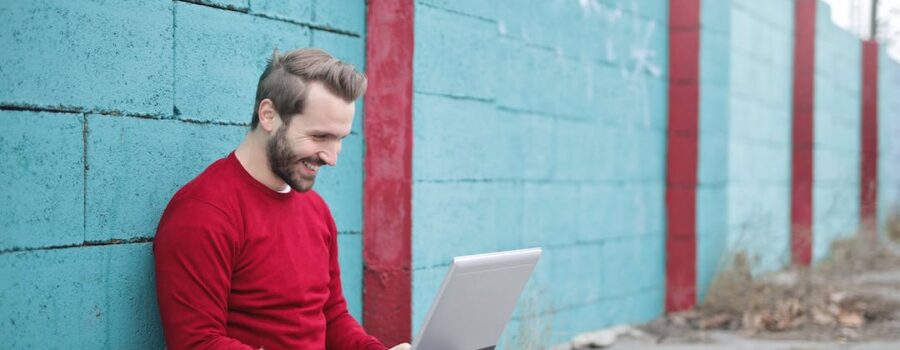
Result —
<instances>
[{"instance_id":1,"label":"second red column from the left, right of the wide teal section","mask_svg":"<svg viewBox=\"0 0 900 350\"><path fill-rule=\"evenodd\" d=\"M669 0L669 8L666 311L678 311L697 298L700 0Z\"/></svg>"}]
</instances>

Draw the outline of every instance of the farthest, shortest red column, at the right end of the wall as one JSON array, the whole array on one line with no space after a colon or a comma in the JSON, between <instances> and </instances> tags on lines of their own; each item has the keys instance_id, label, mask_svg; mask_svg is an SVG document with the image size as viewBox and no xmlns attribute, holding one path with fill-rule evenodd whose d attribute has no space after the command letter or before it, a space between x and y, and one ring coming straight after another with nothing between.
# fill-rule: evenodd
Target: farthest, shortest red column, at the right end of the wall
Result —
<instances>
[{"instance_id":1,"label":"farthest, shortest red column, at the right end of the wall","mask_svg":"<svg viewBox=\"0 0 900 350\"><path fill-rule=\"evenodd\" d=\"M874 234L878 217L878 42L863 42L859 222Z\"/></svg>"}]
</instances>

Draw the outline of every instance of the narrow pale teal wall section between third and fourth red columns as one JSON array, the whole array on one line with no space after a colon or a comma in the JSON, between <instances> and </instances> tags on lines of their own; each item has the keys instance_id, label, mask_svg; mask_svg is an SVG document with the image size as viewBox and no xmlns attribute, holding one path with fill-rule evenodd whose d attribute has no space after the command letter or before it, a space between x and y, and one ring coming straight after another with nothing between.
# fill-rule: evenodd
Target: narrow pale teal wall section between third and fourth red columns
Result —
<instances>
[{"instance_id":1,"label":"narrow pale teal wall section between third and fourth red columns","mask_svg":"<svg viewBox=\"0 0 900 350\"><path fill-rule=\"evenodd\" d=\"M813 261L859 228L862 43L818 4L813 153Z\"/></svg>"}]
</instances>

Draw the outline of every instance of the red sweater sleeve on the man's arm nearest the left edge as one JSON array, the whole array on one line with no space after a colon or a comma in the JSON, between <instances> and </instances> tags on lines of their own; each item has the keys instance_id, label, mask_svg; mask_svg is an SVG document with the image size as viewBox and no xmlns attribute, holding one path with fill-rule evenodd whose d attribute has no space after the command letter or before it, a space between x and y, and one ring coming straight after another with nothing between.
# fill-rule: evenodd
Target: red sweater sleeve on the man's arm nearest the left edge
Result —
<instances>
[{"instance_id":1,"label":"red sweater sleeve on the man's arm nearest the left edge","mask_svg":"<svg viewBox=\"0 0 900 350\"><path fill-rule=\"evenodd\" d=\"M169 349L251 350L226 336L238 233L211 204L182 199L166 209L153 243L156 293Z\"/></svg>"}]
</instances>

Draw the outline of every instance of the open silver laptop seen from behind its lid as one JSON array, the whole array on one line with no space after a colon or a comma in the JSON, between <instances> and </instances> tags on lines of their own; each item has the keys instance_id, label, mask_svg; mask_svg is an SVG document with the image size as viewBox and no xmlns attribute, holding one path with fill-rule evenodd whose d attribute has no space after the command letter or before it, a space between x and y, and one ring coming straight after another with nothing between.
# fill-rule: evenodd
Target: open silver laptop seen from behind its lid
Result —
<instances>
[{"instance_id":1,"label":"open silver laptop seen from behind its lid","mask_svg":"<svg viewBox=\"0 0 900 350\"><path fill-rule=\"evenodd\" d=\"M453 258L412 350L494 349L540 256L531 248Z\"/></svg>"}]
</instances>

